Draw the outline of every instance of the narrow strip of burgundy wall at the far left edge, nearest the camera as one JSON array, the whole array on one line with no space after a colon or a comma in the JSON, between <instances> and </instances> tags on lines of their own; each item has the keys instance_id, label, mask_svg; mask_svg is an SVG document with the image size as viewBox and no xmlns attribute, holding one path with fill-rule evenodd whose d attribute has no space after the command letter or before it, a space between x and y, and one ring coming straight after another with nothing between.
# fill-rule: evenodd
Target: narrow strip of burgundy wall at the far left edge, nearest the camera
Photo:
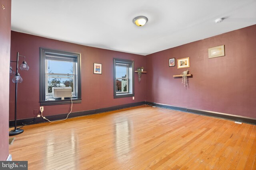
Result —
<instances>
[{"instance_id":1,"label":"narrow strip of burgundy wall at the far left edge, nearest the camera","mask_svg":"<svg viewBox=\"0 0 256 170\"><path fill-rule=\"evenodd\" d=\"M5 9L2 9L2 4ZM9 66L11 1L0 0L0 160L9 155Z\"/></svg>"}]
</instances>

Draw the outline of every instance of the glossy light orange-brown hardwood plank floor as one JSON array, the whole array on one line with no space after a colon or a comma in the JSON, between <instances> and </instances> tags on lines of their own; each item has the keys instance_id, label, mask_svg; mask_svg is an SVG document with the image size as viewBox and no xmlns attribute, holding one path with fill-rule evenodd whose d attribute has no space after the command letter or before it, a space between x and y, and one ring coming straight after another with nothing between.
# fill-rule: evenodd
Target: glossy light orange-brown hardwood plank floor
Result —
<instances>
[{"instance_id":1,"label":"glossy light orange-brown hardwood plank floor","mask_svg":"<svg viewBox=\"0 0 256 170\"><path fill-rule=\"evenodd\" d=\"M256 126L134 107L24 127L10 145L29 170L256 170Z\"/></svg>"}]
</instances>

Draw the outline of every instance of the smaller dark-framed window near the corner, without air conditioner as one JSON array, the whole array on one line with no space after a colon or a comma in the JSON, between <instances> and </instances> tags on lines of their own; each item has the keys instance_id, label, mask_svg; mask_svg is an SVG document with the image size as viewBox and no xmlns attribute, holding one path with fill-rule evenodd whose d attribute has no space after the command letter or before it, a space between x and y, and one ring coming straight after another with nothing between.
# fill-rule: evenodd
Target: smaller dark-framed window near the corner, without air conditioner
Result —
<instances>
[{"instance_id":1,"label":"smaller dark-framed window near the corner, without air conditioner","mask_svg":"<svg viewBox=\"0 0 256 170\"><path fill-rule=\"evenodd\" d=\"M114 98L134 96L134 61L114 59Z\"/></svg>"}]
</instances>

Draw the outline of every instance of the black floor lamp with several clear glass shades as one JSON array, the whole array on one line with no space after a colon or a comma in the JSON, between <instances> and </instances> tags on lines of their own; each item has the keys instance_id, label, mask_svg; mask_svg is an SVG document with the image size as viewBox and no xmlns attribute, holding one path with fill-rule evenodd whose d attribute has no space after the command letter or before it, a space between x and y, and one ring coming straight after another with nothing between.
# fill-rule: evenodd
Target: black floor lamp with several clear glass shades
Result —
<instances>
[{"instance_id":1,"label":"black floor lamp with several clear glass shades","mask_svg":"<svg viewBox=\"0 0 256 170\"><path fill-rule=\"evenodd\" d=\"M18 135L20 133L23 133L23 131L24 131L23 129L17 128L17 90L18 90L18 83L22 82L22 78L21 78L20 74L18 73L19 56L24 57L24 61L20 65L20 70L28 70L29 69L29 66L25 61L25 56L19 55L19 52L17 53L17 60L10 61L10 62L16 63L16 73L14 72L14 70L12 70L12 67L10 66L10 76L14 76L12 78L12 82L15 83L15 127L14 127L14 130L9 132L9 136Z\"/></svg>"}]
</instances>

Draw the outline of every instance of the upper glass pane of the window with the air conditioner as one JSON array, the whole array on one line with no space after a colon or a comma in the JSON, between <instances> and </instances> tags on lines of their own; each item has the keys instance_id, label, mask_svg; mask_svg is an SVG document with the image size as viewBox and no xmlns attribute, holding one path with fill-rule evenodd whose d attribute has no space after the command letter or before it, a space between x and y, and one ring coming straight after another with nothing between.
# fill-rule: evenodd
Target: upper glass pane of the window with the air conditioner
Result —
<instances>
[{"instance_id":1,"label":"upper glass pane of the window with the air conditioner","mask_svg":"<svg viewBox=\"0 0 256 170\"><path fill-rule=\"evenodd\" d=\"M48 61L48 73L73 74L73 62L66 61Z\"/></svg>"}]
</instances>

